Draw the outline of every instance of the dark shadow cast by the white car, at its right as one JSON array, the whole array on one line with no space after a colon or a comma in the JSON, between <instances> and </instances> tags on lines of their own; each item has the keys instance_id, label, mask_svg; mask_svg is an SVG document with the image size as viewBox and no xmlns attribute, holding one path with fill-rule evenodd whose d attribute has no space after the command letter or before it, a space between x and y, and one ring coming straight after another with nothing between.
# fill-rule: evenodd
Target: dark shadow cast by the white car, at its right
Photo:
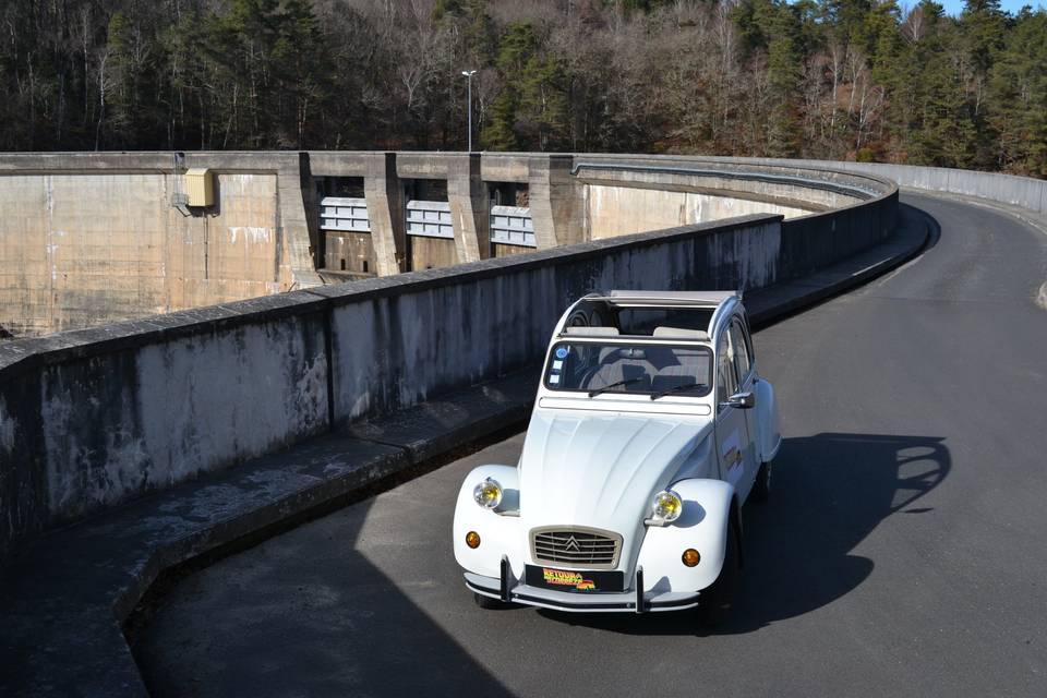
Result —
<instances>
[{"instance_id":1,"label":"dark shadow cast by the white car, at its right","mask_svg":"<svg viewBox=\"0 0 1047 698\"><path fill-rule=\"evenodd\" d=\"M732 635L808 613L858 587L875 561L852 551L892 514L913 506L949 474L942 438L823 433L787 438L774 462L770 501L745 506L745 567L730 619L709 634ZM690 613L551 618L634 635L701 633Z\"/></svg>"}]
</instances>

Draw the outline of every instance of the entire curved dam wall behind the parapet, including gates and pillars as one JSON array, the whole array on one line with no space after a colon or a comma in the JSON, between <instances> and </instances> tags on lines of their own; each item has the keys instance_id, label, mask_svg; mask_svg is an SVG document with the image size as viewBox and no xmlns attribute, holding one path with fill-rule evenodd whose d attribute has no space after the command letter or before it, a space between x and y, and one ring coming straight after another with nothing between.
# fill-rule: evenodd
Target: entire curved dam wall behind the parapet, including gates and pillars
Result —
<instances>
[{"instance_id":1,"label":"entire curved dam wall behind the parapet, including gates and pillars","mask_svg":"<svg viewBox=\"0 0 1047 698\"><path fill-rule=\"evenodd\" d=\"M180 205L207 168L214 203ZM464 153L0 156L0 337L750 214L875 179L711 158Z\"/></svg>"}]
</instances>

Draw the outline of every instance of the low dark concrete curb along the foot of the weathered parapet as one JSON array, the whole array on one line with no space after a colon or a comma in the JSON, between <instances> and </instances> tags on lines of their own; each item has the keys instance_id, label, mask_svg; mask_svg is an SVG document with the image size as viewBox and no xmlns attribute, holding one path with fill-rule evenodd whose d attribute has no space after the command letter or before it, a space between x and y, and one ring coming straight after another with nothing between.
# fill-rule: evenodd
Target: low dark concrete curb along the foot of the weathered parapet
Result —
<instances>
[{"instance_id":1,"label":"low dark concrete curb along the foot of the weathered parapet","mask_svg":"<svg viewBox=\"0 0 1047 698\"><path fill-rule=\"evenodd\" d=\"M747 297L754 324L896 268L924 248L930 226L925 214L902 206L889 243ZM286 530L378 480L522 424L535 381L537 371L527 370L53 531L12 561L0 587L0 694L146 695L122 625L160 575Z\"/></svg>"}]
</instances>

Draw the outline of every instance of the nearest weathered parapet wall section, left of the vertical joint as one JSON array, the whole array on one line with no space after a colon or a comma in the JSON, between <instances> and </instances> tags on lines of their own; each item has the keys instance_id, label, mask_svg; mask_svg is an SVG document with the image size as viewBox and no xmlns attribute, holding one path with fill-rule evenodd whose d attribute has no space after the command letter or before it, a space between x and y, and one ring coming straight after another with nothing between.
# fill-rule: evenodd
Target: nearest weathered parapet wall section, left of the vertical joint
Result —
<instances>
[{"instance_id":1,"label":"nearest weathered parapet wall section, left of the vertical joint","mask_svg":"<svg viewBox=\"0 0 1047 698\"><path fill-rule=\"evenodd\" d=\"M0 552L325 430L324 318L299 292L0 347Z\"/></svg>"}]
</instances>

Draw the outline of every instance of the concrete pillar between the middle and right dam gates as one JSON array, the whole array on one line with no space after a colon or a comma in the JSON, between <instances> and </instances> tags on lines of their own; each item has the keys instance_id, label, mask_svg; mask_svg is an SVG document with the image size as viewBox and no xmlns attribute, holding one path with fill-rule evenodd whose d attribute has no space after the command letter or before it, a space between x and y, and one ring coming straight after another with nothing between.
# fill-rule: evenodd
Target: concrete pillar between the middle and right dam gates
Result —
<instances>
[{"instance_id":1,"label":"concrete pillar between the middle and right dam gates","mask_svg":"<svg viewBox=\"0 0 1047 698\"><path fill-rule=\"evenodd\" d=\"M458 261L477 262L491 256L491 204L488 185L480 176L479 153L448 158L447 202Z\"/></svg>"}]
</instances>

